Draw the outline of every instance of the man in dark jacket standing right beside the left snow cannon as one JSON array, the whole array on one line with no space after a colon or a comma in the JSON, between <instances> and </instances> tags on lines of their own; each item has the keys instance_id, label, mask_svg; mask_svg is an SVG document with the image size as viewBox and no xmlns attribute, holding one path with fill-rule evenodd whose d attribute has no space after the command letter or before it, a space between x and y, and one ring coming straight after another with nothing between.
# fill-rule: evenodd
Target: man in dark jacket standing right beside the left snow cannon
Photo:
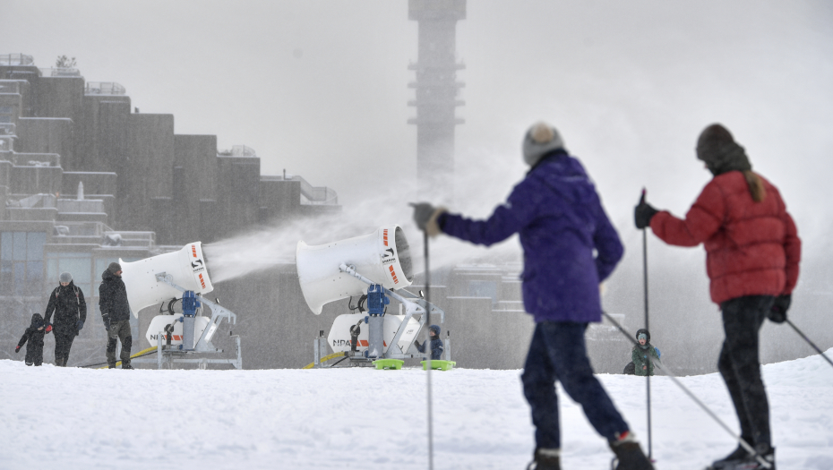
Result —
<instances>
[{"instance_id":1,"label":"man in dark jacket standing right beside the left snow cannon","mask_svg":"<svg viewBox=\"0 0 833 470\"><path fill-rule=\"evenodd\" d=\"M122 341L122 369L133 369L130 365L130 348L133 336L130 331L130 304L127 303L127 288L122 280L122 267L111 262L101 273L99 286L99 310L104 327L107 329L107 364L116 367L116 341Z\"/></svg>"}]
</instances>

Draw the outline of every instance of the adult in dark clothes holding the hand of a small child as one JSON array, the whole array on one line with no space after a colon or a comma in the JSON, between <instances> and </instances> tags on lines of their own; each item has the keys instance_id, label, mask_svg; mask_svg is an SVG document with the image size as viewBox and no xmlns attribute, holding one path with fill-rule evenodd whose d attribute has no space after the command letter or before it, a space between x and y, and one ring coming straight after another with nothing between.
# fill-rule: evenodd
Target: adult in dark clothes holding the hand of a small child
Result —
<instances>
[{"instance_id":1,"label":"adult in dark clothes holding the hand of a small child","mask_svg":"<svg viewBox=\"0 0 833 470\"><path fill-rule=\"evenodd\" d=\"M49 295L47 312L43 317L48 323L55 313L52 320L55 333L55 365L65 367L73 340L84 328L84 321L87 320L87 303L84 301L82 290L73 283L70 273L62 272L58 282L60 286Z\"/></svg>"}]
</instances>

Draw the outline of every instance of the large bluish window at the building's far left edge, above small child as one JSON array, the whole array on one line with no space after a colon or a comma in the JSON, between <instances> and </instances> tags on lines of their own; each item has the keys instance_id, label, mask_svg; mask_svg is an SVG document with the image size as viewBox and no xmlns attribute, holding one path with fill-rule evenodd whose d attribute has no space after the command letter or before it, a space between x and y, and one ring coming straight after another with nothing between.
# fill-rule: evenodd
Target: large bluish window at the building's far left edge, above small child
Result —
<instances>
[{"instance_id":1,"label":"large bluish window at the building's far left edge, above small child","mask_svg":"<svg viewBox=\"0 0 833 470\"><path fill-rule=\"evenodd\" d=\"M44 232L0 233L0 295L42 294L46 241Z\"/></svg>"}]
</instances>

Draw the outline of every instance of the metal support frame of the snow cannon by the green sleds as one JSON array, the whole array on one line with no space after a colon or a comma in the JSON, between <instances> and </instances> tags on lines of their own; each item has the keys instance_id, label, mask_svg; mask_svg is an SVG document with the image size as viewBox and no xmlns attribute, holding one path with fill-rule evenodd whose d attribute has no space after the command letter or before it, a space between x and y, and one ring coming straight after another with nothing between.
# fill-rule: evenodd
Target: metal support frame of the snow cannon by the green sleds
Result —
<instances>
[{"instance_id":1,"label":"metal support frame of the snow cannon by the green sleds","mask_svg":"<svg viewBox=\"0 0 833 470\"><path fill-rule=\"evenodd\" d=\"M356 272L356 267L355 266L352 266L352 265L348 266L347 264L342 263L339 266L339 269L342 272L347 273L350 276L364 282L368 286L373 285L373 284L379 284L379 283L376 283L376 282L374 282L374 281L372 281L368 278L365 278L360 273ZM432 315L435 315L435 314L440 315L440 322L442 323L442 322L445 321L445 312L441 308L434 305L434 303L428 303L427 301L425 301L425 299L420 298L417 295L414 295L414 294L408 292L407 290L403 289L403 290L400 290L398 292L394 292L394 291L391 291L390 289L385 288L384 286L382 286L382 289L383 289L385 295L393 297L394 299L399 301L399 303L402 303L403 305L405 305L405 318L402 320L402 323L399 326L399 329L397 330L396 335L394 335L393 340L391 340L391 346L388 346L388 350L385 352L385 354L382 357L384 359L412 359L412 358L418 358L418 357L425 356L424 353L420 353L417 350L417 347L414 346L414 342L417 340L417 338L419 338L419 333L422 331L423 327L425 326L425 319L427 318L427 315L425 313L428 312L427 309L431 309L431 314ZM414 338L411 340L411 342L408 343L408 346L406 346L405 350L403 351L402 348L399 347L399 339L402 338L402 333L405 332L405 329L402 328L402 326L408 325L408 321L410 321L411 318L413 318L415 315L417 315L417 321L419 322L419 330L417 331L417 334L414 336ZM321 366L321 362L320 362L321 356L322 356L322 353L320 352L319 347L316 347L316 349L315 349L315 362L314 362L314 364L316 366ZM365 356L356 356L356 357L354 357L354 356L350 356L349 354L347 354L347 357L350 358L351 363L356 362L356 363L362 363L361 365L365 365L364 363L366 363L366 365L372 365L372 360L365 358ZM354 364L354 365L359 365L359 364Z\"/></svg>"}]
</instances>

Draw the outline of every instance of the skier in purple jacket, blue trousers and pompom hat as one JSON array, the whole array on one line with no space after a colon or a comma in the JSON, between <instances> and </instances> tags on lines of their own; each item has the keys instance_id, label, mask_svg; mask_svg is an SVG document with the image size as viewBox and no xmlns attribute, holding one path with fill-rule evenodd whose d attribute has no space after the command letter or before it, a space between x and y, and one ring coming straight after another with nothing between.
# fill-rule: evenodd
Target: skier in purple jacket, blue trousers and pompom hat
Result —
<instances>
[{"instance_id":1,"label":"skier in purple jacket, blue trousers and pompom hat","mask_svg":"<svg viewBox=\"0 0 833 470\"><path fill-rule=\"evenodd\" d=\"M619 458L619 470L652 469L628 424L593 375L587 355L588 322L602 317L599 283L613 272L623 246L578 159L545 123L523 140L530 169L509 200L486 220L471 220L431 204L414 206L427 235L455 236L491 245L520 234L524 252L523 301L536 328L521 377L536 426L533 464L560 469L561 433L555 380L579 402L588 421Z\"/></svg>"}]
</instances>

